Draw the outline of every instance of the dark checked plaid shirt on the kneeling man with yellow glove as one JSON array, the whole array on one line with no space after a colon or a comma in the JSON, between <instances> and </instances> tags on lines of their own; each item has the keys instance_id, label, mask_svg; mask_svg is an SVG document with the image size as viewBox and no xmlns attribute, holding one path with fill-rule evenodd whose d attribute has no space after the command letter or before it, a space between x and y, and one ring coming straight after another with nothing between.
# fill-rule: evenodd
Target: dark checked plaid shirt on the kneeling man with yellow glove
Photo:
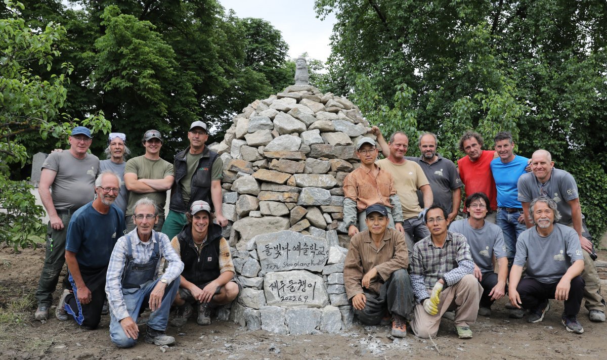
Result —
<instances>
[{"instance_id":1,"label":"dark checked plaid shirt on the kneeling man with yellow glove","mask_svg":"<svg viewBox=\"0 0 607 360\"><path fill-rule=\"evenodd\" d=\"M466 274L472 274L474 262L470 246L462 234L447 231L447 239L442 248L432 242L432 236L425 237L413 246L411 259L411 285L415 299L420 304L430 297L439 279L445 287L456 284Z\"/></svg>"}]
</instances>

